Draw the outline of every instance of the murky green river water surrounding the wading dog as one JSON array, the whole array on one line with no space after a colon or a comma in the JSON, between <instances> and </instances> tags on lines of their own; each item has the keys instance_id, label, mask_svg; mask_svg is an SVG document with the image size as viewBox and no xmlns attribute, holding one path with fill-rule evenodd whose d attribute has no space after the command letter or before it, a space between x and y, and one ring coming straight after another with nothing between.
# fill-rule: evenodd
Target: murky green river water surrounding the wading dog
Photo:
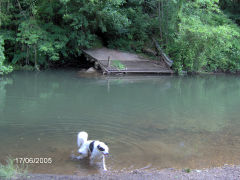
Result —
<instances>
[{"instance_id":1,"label":"murky green river water surrounding the wading dog","mask_svg":"<svg viewBox=\"0 0 240 180\"><path fill-rule=\"evenodd\" d=\"M239 164L240 76L81 76L15 72L0 80L0 162L33 173L99 173L73 161L81 130L110 147L114 170Z\"/></svg>"}]
</instances>

